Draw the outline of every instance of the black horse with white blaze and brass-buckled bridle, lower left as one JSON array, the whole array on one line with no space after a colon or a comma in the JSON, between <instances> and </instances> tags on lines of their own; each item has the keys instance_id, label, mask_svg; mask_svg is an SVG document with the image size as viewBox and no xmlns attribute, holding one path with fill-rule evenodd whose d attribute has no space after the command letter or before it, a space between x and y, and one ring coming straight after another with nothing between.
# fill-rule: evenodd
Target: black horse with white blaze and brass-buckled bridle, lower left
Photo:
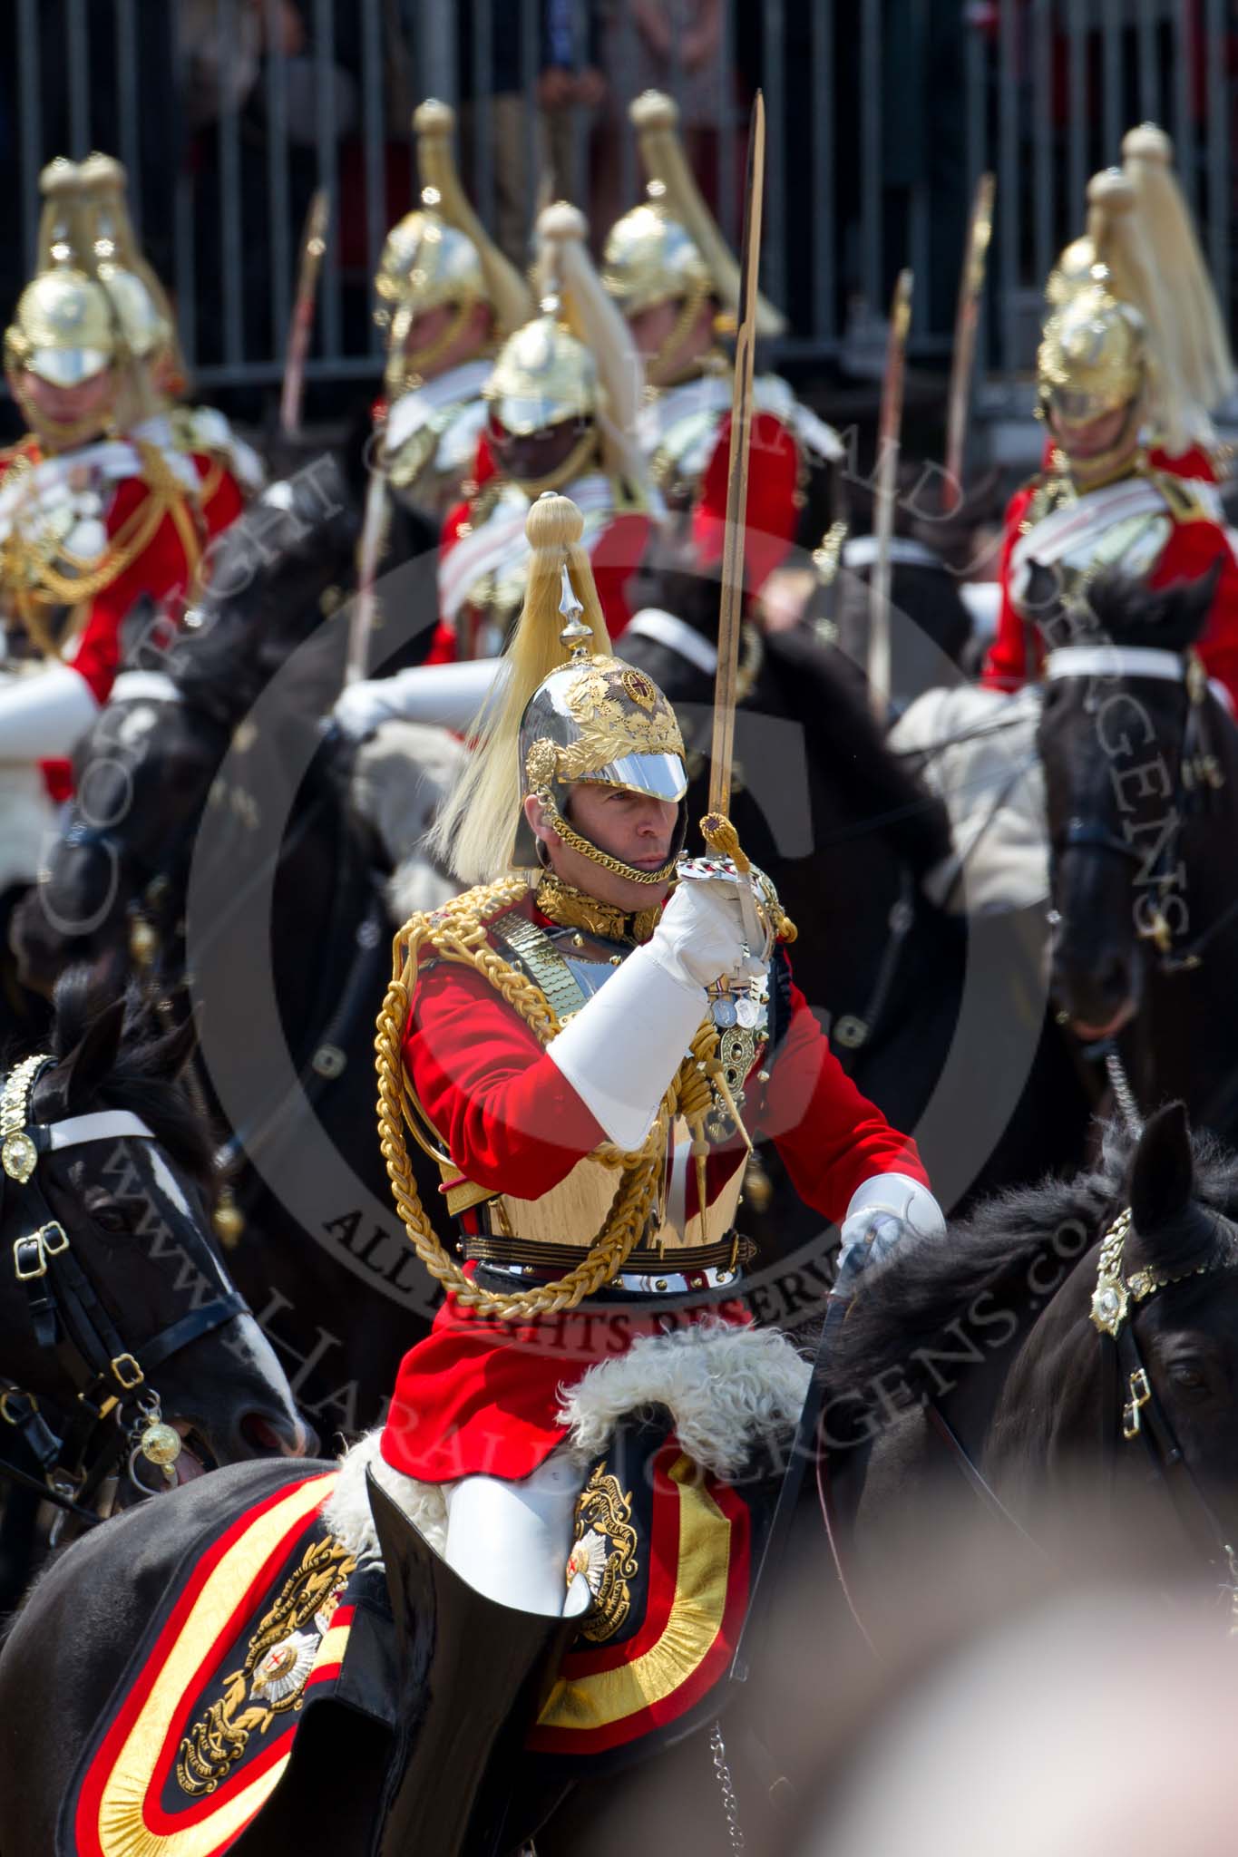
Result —
<instances>
[{"instance_id":1,"label":"black horse with white blaze and brass-buckled bridle, lower left","mask_svg":"<svg viewBox=\"0 0 1238 1857\"><path fill-rule=\"evenodd\" d=\"M0 1610L30 1575L39 1508L6 1467L89 1523L111 1500L163 1487L160 1469L134 1456L152 1417L184 1439L178 1482L312 1443L210 1235L208 1131L178 1083L191 1045L193 1025L158 1034L89 969L56 990L24 1120L37 1155L24 1181L20 1168L4 1179L0 1200L11 1259L0 1274ZM148 1135L132 1120L111 1129L104 1110L137 1116Z\"/></svg>"}]
</instances>

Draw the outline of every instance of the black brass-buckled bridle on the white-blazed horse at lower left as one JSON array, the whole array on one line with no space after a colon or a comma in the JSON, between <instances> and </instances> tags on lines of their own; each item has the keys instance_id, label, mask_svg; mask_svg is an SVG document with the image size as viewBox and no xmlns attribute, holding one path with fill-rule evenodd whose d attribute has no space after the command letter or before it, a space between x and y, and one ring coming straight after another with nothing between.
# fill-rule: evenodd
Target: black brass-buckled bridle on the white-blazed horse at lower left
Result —
<instances>
[{"instance_id":1,"label":"black brass-buckled bridle on the white-blazed horse at lower left","mask_svg":"<svg viewBox=\"0 0 1238 1857\"><path fill-rule=\"evenodd\" d=\"M39 1181L39 1166L52 1149L74 1148L87 1140L115 1140L121 1133L145 1140L154 1140L154 1135L139 1118L121 1110L100 1110L56 1123L35 1122L30 1105L39 1077L52 1062L50 1057L28 1058L4 1079L0 1229L19 1227L19 1237L6 1244L13 1259L11 1268L26 1292L35 1343L56 1357L74 1389L74 1402L72 1417L58 1435L32 1395L6 1385L0 1395L0 1419L22 1435L43 1480L2 1461L0 1478L35 1487L58 1508L95 1523L100 1517L87 1508L87 1502L126 1454L130 1480L141 1495L152 1491L137 1474L139 1460L163 1461L152 1454L154 1447L145 1448L154 1428L167 1432L161 1424L160 1395L147 1374L189 1343L243 1315L247 1304L238 1291L228 1291L141 1343L126 1341L89 1272L78 1263L69 1233L52 1214ZM119 1120L124 1123L123 1129L117 1127ZM102 1450L91 1454L97 1430L108 1419L113 1421L111 1435Z\"/></svg>"}]
</instances>

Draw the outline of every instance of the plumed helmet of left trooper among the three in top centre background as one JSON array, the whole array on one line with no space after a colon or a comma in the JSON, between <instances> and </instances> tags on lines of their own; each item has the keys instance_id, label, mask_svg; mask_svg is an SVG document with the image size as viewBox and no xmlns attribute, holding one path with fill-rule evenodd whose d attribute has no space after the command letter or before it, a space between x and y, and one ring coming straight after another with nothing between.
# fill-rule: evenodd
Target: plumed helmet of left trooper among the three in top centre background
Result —
<instances>
[{"instance_id":1,"label":"plumed helmet of left trooper among the three in top centre background","mask_svg":"<svg viewBox=\"0 0 1238 1857\"><path fill-rule=\"evenodd\" d=\"M516 267L486 234L460 186L453 156L455 110L427 98L412 113L421 204L388 232L375 273L375 321L388 331L388 392L414 384L455 342L473 305L484 303L497 336L533 316ZM418 316L451 305L449 327L421 351L405 353Z\"/></svg>"}]
</instances>

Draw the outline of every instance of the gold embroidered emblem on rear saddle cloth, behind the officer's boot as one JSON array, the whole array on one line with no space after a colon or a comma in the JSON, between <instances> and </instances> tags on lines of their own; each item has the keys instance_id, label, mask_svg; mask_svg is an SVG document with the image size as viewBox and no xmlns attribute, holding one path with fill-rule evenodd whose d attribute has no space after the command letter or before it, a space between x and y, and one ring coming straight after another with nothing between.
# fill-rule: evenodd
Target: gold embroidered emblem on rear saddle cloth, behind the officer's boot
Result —
<instances>
[{"instance_id":1,"label":"gold embroidered emblem on rear saddle cloth, behind the officer's boot","mask_svg":"<svg viewBox=\"0 0 1238 1857\"><path fill-rule=\"evenodd\" d=\"M251 1734L265 1734L277 1716L301 1708L317 1649L355 1565L334 1536L304 1551L251 1636L245 1662L223 1679L219 1701L184 1736L176 1760L182 1792L191 1798L213 1792L243 1759Z\"/></svg>"}]
</instances>

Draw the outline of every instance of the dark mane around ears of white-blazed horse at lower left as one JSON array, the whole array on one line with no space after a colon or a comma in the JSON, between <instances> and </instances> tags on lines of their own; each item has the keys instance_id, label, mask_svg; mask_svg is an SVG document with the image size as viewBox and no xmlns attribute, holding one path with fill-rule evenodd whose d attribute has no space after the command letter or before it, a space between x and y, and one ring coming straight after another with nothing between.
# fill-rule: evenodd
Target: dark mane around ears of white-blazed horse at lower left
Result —
<instances>
[{"instance_id":1,"label":"dark mane around ears of white-blazed horse at lower left","mask_svg":"<svg viewBox=\"0 0 1238 1857\"><path fill-rule=\"evenodd\" d=\"M78 964L65 969L56 984L56 1016L46 1049L56 1058L78 1047L115 988L97 967ZM213 1190L215 1144L212 1129L195 1110L187 1092L176 1083L174 1049L182 1032L163 1032L135 988L126 992L124 1031L115 1064L97 1083L108 1109L128 1109L141 1116L154 1138L199 1187Z\"/></svg>"}]
</instances>

